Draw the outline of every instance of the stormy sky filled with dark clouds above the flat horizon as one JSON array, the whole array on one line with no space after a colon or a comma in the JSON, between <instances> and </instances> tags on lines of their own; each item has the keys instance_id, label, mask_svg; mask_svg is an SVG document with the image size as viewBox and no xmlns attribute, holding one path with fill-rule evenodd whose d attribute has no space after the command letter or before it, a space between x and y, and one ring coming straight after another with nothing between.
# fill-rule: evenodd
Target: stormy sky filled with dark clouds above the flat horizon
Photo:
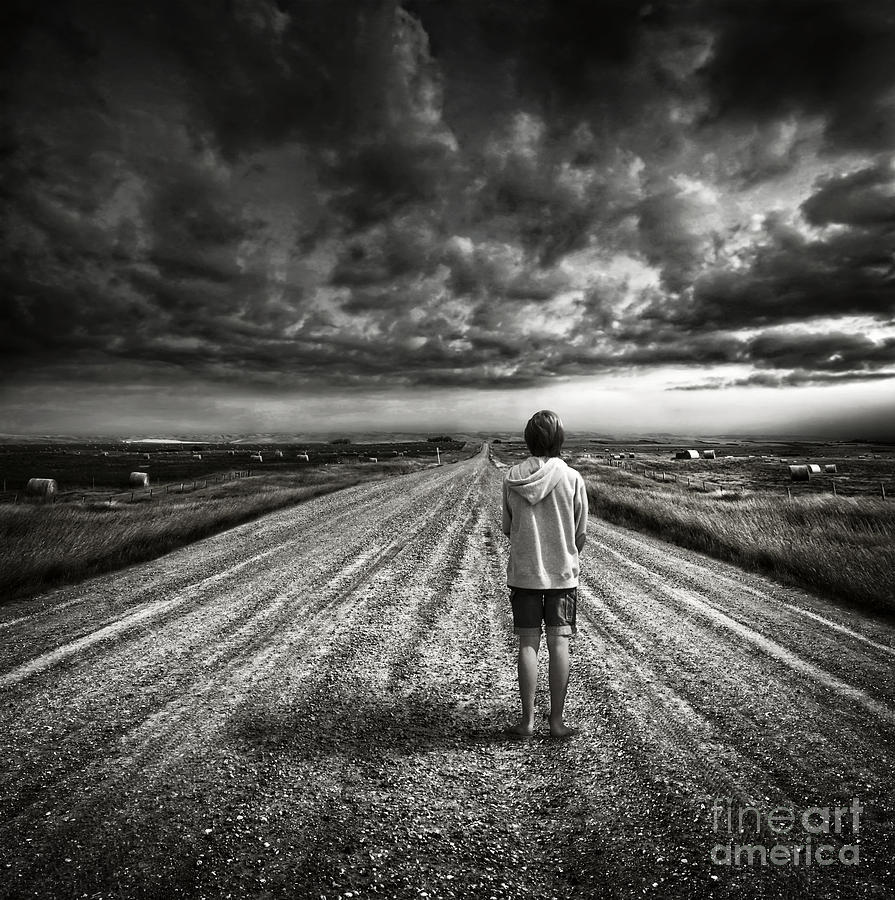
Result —
<instances>
[{"instance_id":1,"label":"stormy sky filled with dark clouds above the flat horizon","mask_svg":"<svg viewBox=\"0 0 895 900\"><path fill-rule=\"evenodd\" d=\"M0 432L895 436L888 0L0 17Z\"/></svg>"}]
</instances>

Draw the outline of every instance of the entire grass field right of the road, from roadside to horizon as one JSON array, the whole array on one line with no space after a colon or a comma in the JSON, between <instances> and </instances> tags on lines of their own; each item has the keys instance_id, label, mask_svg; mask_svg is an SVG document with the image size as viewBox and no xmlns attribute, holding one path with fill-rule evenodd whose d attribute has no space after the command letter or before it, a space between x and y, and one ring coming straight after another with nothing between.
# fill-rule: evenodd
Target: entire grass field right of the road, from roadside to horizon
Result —
<instances>
[{"instance_id":1,"label":"entire grass field right of the road, from roadside to horizon","mask_svg":"<svg viewBox=\"0 0 895 900\"><path fill-rule=\"evenodd\" d=\"M521 443L497 445L504 462L524 458ZM616 524L654 534L664 540L707 553L783 584L808 588L838 602L887 614L895 613L895 495L882 500L868 491L833 496L814 484L793 484L786 494L788 470L768 454L742 452L725 460L670 460L667 448L640 450L638 470L613 468L588 459L598 451L570 442L567 456L585 476L592 513ZM756 448L759 450L762 448ZM797 458L827 462L844 460L845 470L863 473L868 484L893 483L895 457L877 451L862 457L862 448L831 445L800 447ZM849 452L851 450L851 452ZM613 450L613 452L616 452ZM628 459L626 454L626 460ZM714 465L721 463L720 466ZM656 471L690 473L677 481L656 481ZM703 491L702 481L717 482L719 470L735 471L728 488ZM641 472L647 474L640 474ZM868 475L868 471L870 474ZM786 473L786 474L784 474ZM856 481L858 478L856 477ZM853 482L854 483L854 482ZM750 487L754 485L754 487ZM895 487L895 485L893 485Z\"/></svg>"}]
</instances>

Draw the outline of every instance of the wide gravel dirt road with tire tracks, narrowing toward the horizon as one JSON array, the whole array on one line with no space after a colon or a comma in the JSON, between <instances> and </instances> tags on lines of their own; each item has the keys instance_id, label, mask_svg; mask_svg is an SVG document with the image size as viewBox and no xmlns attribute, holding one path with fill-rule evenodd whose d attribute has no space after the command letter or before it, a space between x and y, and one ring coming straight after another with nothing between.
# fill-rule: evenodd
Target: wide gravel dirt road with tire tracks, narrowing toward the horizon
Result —
<instances>
[{"instance_id":1,"label":"wide gravel dirt road with tire tracks, narrowing toward the horizon","mask_svg":"<svg viewBox=\"0 0 895 900\"><path fill-rule=\"evenodd\" d=\"M895 627L592 521L581 731L509 741L502 474L485 447L0 608L0 895L895 896ZM830 865L712 862L852 798ZM748 805L796 823L729 834Z\"/></svg>"}]
</instances>

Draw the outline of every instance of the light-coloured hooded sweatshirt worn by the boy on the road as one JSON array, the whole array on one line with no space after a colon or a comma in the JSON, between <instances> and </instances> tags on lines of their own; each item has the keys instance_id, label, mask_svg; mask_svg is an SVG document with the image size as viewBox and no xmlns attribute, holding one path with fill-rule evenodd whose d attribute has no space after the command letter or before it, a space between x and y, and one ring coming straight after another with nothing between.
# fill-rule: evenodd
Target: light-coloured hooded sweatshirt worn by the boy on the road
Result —
<instances>
[{"instance_id":1,"label":"light-coloured hooded sweatshirt worn by the boy on the road","mask_svg":"<svg viewBox=\"0 0 895 900\"><path fill-rule=\"evenodd\" d=\"M578 586L576 537L587 531L587 491L559 457L530 456L503 481L507 584L545 590Z\"/></svg>"}]
</instances>

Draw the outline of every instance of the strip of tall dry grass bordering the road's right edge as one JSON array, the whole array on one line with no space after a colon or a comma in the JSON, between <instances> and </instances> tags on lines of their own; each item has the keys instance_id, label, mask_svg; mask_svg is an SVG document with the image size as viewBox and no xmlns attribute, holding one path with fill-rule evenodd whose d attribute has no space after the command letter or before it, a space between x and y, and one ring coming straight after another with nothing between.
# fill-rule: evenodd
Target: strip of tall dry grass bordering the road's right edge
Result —
<instances>
[{"instance_id":1,"label":"strip of tall dry grass bordering the road's right edge","mask_svg":"<svg viewBox=\"0 0 895 900\"><path fill-rule=\"evenodd\" d=\"M895 501L740 493L585 469L592 511L785 584L895 613Z\"/></svg>"}]
</instances>

